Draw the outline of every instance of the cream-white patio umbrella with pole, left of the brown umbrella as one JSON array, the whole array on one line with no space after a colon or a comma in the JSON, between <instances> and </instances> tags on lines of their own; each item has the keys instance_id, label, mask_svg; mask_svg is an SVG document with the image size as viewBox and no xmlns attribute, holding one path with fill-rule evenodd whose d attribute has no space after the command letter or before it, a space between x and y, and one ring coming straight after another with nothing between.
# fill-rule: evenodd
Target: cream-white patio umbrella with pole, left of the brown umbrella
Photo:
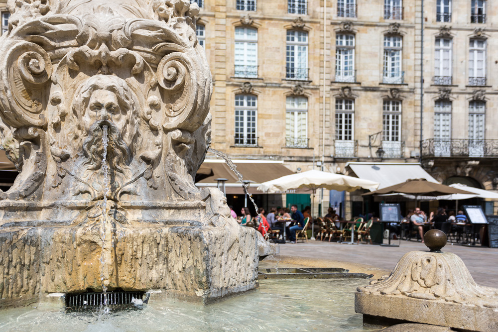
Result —
<instances>
[{"instance_id":1,"label":"cream-white patio umbrella with pole, left of the brown umbrella","mask_svg":"<svg viewBox=\"0 0 498 332\"><path fill-rule=\"evenodd\" d=\"M313 199L311 201L311 211L313 213L313 201L315 200L316 190L324 188L327 190L337 191L355 191L358 189L375 190L380 184L370 180L363 180L352 176L311 170L302 173L282 176L278 179L261 183L257 190L265 193L275 193L289 189L311 189ZM312 238L314 238L314 224L312 224Z\"/></svg>"}]
</instances>

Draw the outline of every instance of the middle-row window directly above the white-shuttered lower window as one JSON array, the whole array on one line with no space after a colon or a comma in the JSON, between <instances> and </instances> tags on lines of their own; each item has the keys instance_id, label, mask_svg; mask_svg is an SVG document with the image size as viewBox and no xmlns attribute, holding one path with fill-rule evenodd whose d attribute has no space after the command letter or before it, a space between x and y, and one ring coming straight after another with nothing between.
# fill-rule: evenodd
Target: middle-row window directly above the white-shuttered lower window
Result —
<instances>
[{"instance_id":1,"label":"middle-row window directly above the white-shuttered lower window","mask_svg":"<svg viewBox=\"0 0 498 332\"><path fill-rule=\"evenodd\" d=\"M285 54L285 78L293 80L308 79L308 33L287 31Z\"/></svg>"}]
</instances>

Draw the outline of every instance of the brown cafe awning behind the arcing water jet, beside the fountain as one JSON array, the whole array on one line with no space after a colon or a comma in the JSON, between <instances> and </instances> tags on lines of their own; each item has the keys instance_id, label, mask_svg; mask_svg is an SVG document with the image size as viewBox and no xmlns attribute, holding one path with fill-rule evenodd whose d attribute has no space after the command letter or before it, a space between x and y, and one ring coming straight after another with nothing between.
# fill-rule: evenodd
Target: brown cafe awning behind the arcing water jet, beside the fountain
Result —
<instances>
[{"instance_id":1,"label":"brown cafe awning behind the arcing water jet, beside the fountain","mask_svg":"<svg viewBox=\"0 0 498 332\"><path fill-rule=\"evenodd\" d=\"M234 160L235 165L237 165L237 170L243 175L244 180L249 180L249 193L251 194L264 194L258 191L256 188L266 181L270 181L279 178L284 175L294 174L290 169L283 165L283 161L279 160ZM199 180L196 185L198 187L216 187L218 178L228 179L225 182L225 190L227 194L244 194L244 189L242 184L239 182L239 178L235 173L228 167L224 160L221 159L208 159L205 160L199 169L202 171L202 175L212 174ZM199 175L199 173L198 173ZM196 176L199 179L199 176ZM309 194L310 190L299 189L299 190L289 190L285 193L302 193Z\"/></svg>"}]
</instances>

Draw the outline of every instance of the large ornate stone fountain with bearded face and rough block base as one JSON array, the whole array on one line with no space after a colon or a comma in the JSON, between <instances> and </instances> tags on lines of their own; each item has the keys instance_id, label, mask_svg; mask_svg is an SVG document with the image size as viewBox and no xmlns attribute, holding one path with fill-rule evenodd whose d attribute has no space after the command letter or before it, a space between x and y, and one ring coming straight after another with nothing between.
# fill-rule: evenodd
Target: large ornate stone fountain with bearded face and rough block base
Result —
<instances>
[{"instance_id":1,"label":"large ornate stone fountain with bearded face and rough block base","mask_svg":"<svg viewBox=\"0 0 498 332\"><path fill-rule=\"evenodd\" d=\"M20 174L0 193L0 307L106 288L207 303L257 287L254 230L194 184L212 91L197 4L8 9L0 132Z\"/></svg>"}]
</instances>

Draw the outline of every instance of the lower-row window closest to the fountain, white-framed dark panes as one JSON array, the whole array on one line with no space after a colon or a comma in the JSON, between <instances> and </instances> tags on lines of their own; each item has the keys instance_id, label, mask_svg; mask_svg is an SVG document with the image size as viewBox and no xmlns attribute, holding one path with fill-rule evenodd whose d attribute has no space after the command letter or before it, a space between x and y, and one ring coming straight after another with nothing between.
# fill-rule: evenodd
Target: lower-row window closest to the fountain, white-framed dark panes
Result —
<instances>
[{"instance_id":1,"label":"lower-row window closest to the fountain, white-framed dark panes","mask_svg":"<svg viewBox=\"0 0 498 332\"><path fill-rule=\"evenodd\" d=\"M235 144L257 145L257 98L252 95L235 96Z\"/></svg>"}]
</instances>

